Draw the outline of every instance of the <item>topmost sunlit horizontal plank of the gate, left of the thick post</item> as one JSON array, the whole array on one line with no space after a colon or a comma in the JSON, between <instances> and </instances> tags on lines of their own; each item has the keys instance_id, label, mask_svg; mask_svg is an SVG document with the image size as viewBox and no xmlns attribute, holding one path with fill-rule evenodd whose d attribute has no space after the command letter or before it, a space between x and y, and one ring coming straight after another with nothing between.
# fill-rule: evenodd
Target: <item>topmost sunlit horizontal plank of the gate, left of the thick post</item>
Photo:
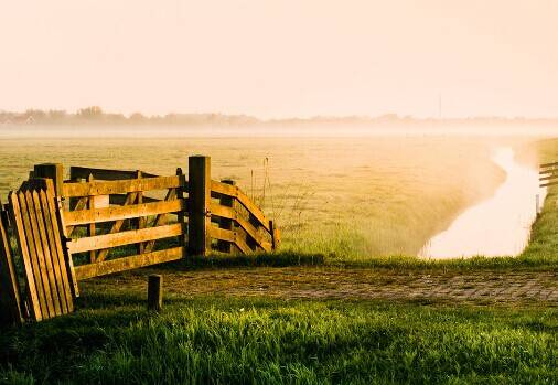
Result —
<instances>
[{"instance_id":1,"label":"topmost sunlit horizontal plank of the gate, left of the thick post","mask_svg":"<svg viewBox=\"0 0 558 385\"><path fill-rule=\"evenodd\" d=\"M183 188L184 178L178 175L131 179L124 181L94 181L88 183L64 183L64 196L92 196L126 194L130 192Z\"/></svg>"}]
</instances>

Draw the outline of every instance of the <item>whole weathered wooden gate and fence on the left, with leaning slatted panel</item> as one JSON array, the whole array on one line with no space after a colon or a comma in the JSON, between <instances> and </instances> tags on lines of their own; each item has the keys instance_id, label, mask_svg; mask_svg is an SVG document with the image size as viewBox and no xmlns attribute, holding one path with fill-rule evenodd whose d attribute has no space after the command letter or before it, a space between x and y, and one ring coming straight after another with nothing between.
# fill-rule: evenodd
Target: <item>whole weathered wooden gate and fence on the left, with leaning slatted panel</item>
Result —
<instances>
[{"instance_id":1,"label":"whole weathered wooden gate and fence on the left, with leaning slatted panel","mask_svg":"<svg viewBox=\"0 0 558 385\"><path fill-rule=\"evenodd\" d=\"M211 159L202 156L189 158L187 179L181 169L160 177L140 170L71 167L65 180L62 164L37 164L20 191L10 194L9 206L18 254L32 263L25 265L26 280L20 285L8 221L2 221L0 297L12 306L12 319L41 320L72 311L82 279L214 250L271 252L280 239L273 221L234 181L211 179ZM22 215L21 210L33 210L35 216ZM31 242L35 252L41 246L40 253L31 252ZM40 287L33 297L34 284ZM19 299L22 286L28 312Z\"/></svg>"}]
</instances>

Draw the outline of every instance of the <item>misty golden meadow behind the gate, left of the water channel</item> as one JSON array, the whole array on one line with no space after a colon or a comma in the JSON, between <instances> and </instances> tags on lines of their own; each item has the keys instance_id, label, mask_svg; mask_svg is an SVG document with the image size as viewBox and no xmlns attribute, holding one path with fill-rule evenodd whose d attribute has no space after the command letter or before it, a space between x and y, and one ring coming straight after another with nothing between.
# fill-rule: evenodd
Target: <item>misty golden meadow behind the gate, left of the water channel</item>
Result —
<instances>
[{"instance_id":1,"label":"misty golden meadow behind the gate, left of the water channel","mask_svg":"<svg viewBox=\"0 0 558 385\"><path fill-rule=\"evenodd\" d=\"M517 140L515 140L517 141ZM187 156L212 157L278 221L282 250L329 260L415 256L504 173L491 149L511 139L443 136L367 138L0 139L0 196L33 164L61 162L173 174Z\"/></svg>"}]
</instances>

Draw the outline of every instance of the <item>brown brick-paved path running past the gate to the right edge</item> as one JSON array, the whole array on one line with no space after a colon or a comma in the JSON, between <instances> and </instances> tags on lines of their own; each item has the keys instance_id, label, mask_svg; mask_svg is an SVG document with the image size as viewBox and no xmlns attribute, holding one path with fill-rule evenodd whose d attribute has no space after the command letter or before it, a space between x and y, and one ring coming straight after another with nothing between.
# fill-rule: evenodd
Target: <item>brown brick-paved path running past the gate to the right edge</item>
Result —
<instances>
[{"instance_id":1,"label":"brown brick-paved path running past the gate to the right edge","mask_svg":"<svg viewBox=\"0 0 558 385\"><path fill-rule=\"evenodd\" d=\"M144 269L81 284L82 291L117 285L144 290L162 274L169 293L269 296L283 299L394 299L417 301L545 302L558 306L558 272L430 272L330 267L228 268L190 271Z\"/></svg>"}]
</instances>

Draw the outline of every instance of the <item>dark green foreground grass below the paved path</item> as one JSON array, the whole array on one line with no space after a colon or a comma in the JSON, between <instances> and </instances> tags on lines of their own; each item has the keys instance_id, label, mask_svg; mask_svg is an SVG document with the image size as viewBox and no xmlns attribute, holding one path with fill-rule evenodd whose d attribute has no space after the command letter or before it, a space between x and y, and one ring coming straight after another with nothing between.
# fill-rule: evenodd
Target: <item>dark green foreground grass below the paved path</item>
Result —
<instances>
[{"instance_id":1,"label":"dark green foreground grass below the paved path","mask_svg":"<svg viewBox=\"0 0 558 385\"><path fill-rule=\"evenodd\" d=\"M558 381L558 309L141 298L0 336L0 383L494 383Z\"/></svg>"}]
</instances>

